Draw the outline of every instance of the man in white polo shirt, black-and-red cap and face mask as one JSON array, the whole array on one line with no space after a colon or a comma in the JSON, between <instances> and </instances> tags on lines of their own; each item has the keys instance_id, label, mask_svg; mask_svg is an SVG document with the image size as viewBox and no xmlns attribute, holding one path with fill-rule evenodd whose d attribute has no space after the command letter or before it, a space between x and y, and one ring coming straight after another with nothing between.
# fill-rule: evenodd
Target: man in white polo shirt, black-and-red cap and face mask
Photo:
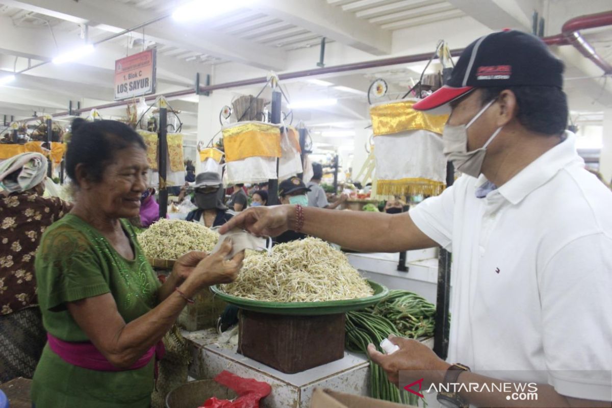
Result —
<instances>
[{"instance_id":1,"label":"man in white polo shirt, black-and-red cap and face mask","mask_svg":"<svg viewBox=\"0 0 612 408\"><path fill-rule=\"evenodd\" d=\"M448 85L414 105L452 109L444 153L463 176L442 195L399 215L254 209L223 228L296 229L360 251L441 245L453 260L450 364L414 340L391 338L400 347L392 355L370 346L395 384L401 372L478 385L440 393L448 407L610 407L612 193L564 132L562 73L537 37L481 37ZM538 399L482 391L497 380L535 383Z\"/></svg>"}]
</instances>

